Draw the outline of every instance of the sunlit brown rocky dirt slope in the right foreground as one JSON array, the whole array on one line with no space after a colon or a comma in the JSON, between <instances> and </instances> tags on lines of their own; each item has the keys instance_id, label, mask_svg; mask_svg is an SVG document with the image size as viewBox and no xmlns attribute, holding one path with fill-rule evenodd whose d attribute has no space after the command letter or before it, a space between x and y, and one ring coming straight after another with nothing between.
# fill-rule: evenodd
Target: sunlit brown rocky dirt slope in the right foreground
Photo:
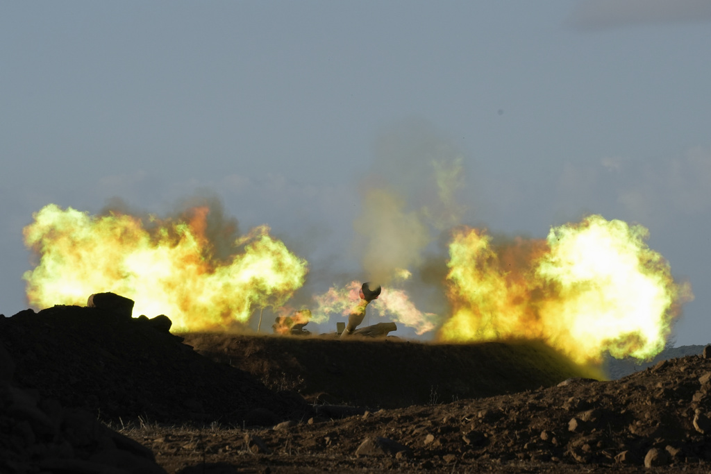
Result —
<instances>
[{"instance_id":1,"label":"sunlit brown rocky dirt slope in the right foreground","mask_svg":"<svg viewBox=\"0 0 711 474\"><path fill-rule=\"evenodd\" d=\"M169 435L149 427L132 436L151 446L171 472L202 462L205 472L220 473L237 467L272 473L707 473L709 357L711 347L706 357L661 362L611 382L576 378L517 394L341 420L315 417L273 429ZM181 451L190 439L197 448Z\"/></svg>"}]
</instances>

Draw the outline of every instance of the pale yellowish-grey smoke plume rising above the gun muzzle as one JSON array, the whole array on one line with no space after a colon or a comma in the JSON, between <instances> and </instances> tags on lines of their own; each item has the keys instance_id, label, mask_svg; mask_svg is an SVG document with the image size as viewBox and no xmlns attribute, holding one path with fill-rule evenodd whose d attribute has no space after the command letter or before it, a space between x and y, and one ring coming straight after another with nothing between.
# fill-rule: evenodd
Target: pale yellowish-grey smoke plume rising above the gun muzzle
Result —
<instances>
[{"instance_id":1,"label":"pale yellowish-grey smoke plume rising above the gun muzzle","mask_svg":"<svg viewBox=\"0 0 711 474\"><path fill-rule=\"evenodd\" d=\"M431 126L408 122L380 136L353 222L367 278L388 284L399 270L428 264L425 249L461 222L463 183L461 153Z\"/></svg>"}]
</instances>

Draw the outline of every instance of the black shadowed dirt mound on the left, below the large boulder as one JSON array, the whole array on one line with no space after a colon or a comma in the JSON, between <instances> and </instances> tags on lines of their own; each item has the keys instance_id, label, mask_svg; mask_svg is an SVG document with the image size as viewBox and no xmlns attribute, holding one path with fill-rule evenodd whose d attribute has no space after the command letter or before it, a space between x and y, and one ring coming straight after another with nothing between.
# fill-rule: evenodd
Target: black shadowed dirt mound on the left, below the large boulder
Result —
<instances>
[{"instance_id":1,"label":"black shadowed dirt mound on the left, below the large boulder","mask_svg":"<svg viewBox=\"0 0 711 474\"><path fill-rule=\"evenodd\" d=\"M18 385L106 421L242 426L309 412L296 394L269 390L155 326L100 308L54 306L1 318L0 343L16 362Z\"/></svg>"}]
</instances>

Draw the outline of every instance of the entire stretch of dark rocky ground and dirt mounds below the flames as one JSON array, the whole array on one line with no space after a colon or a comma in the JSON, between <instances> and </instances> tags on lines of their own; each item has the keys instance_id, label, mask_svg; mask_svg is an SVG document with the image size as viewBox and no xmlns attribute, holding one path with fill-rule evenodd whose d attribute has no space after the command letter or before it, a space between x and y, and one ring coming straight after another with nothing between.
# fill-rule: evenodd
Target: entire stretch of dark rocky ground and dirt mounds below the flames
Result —
<instances>
[{"instance_id":1,"label":"entire stretch of dark rocky ground and dirt mounds below the flames","mask_svg":"<svg viewBox=\"0 0 711 474\"><path fill-rule=\"evenodd\" d=\"M711 472L711 348L596 381L535 343L168 323L0 319L0 472Z\"/></svg>"}]
</instances>

